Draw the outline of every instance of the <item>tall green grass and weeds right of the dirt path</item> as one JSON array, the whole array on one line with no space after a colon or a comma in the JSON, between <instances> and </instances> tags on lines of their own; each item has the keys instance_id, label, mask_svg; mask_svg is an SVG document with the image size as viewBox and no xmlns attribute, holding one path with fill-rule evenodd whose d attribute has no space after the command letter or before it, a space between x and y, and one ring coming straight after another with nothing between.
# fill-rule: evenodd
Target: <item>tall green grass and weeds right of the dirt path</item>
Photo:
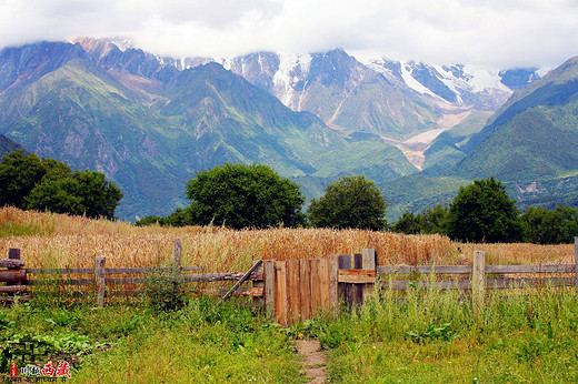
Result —
<instances>
[{"instance_id":1,"label":"tall green grass and weeds right of the dirt path","mask_svg":"<svg viewBox=\"0 0 578 384\"><path fill-rule=\"evenodd\" d=\"M329 377L343 383L575 383L574 290L490 293L480 313L459 292L381 292L353 314L318 327Z\"/></svg>"}]
</instances>

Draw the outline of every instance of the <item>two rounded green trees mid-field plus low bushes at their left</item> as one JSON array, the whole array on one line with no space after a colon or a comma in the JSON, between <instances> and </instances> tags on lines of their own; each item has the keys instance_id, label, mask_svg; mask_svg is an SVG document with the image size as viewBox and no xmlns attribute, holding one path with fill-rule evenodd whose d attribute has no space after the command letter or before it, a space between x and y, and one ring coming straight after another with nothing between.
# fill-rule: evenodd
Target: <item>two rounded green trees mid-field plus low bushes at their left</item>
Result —
<instances>
[{"instance_id":1,"label":"two rounded green trees mid-field plus low bushes at their left","mask_svg":"<svg viewBox=\"0 0 578 384\"><path fill-rule=\"evenodd\" d=\"M308 215L299 185L267 165L225 164L198 172L187 183L186 209L167 218L147 216L137 225L226 225L232 229L305 226L383 230L386 202L372 181L346 176L313 199Z\"/></svg>"}]
</instances>

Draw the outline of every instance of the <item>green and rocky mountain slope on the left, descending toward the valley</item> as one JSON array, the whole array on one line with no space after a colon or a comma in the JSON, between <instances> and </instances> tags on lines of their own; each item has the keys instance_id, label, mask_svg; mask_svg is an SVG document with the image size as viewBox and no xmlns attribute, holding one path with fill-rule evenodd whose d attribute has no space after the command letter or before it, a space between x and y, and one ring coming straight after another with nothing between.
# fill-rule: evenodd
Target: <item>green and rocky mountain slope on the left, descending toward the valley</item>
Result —
<instances>
[{"instance_id":1,"label":"green and rocky mountain slope on the left, descending toward the valley","mask_svg":"<svg viewBox=\"0 0 578 384\"><path fill-rule=\"evenodd\" d=\"M118 215L165 215L198 170L267 163L285 176L417 170L393 146L351 142L308 112L218 63L179 70L113 44L37 43L0 52L0 132L42 156L106 173L124 192ZM307 180L307 179L306 179Z\"/></svg>"}]
</instances>

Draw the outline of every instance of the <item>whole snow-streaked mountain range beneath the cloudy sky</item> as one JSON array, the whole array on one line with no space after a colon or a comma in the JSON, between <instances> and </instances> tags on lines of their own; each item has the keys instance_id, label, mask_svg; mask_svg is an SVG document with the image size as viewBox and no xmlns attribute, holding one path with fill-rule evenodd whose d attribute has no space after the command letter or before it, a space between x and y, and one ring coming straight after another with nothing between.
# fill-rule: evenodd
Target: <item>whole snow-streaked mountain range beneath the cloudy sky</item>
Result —
<instances>
[{"instance_id":1,"label":"whole snow-streaked mountain range beneath the cloudy sky","mask_svg":"<svg viewBox=\"0 0 578 384\"><path fill-rule=\"evenodd\" d=\"M545 196L527 185L549 183L554 201L557 178L572 183L578 171L566 153L576 119L571 60L541 79L538 69L358 60L340 49L172 59L121 42L0 51L0 134L106 173L124 192L123 220L183 206L187 180L223 162L267 163L310 198L362 173L397 206L393 215L488 174L517 183L525 199ZM570 146L551 155L558 144L548 132ZM526 150L511 150L518 145ZM532 154L535 165L519 160Z\"/></svg>"}]
</instances>

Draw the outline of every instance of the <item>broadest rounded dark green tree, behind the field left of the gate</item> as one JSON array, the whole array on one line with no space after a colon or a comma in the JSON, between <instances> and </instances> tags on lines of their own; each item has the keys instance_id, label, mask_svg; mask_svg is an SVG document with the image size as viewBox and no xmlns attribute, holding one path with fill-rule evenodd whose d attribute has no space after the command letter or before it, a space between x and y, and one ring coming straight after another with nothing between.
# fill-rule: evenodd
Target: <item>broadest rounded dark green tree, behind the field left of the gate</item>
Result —
<instances>
[{"instance_id":1,"label":"broadest rounded dark green tree, behind the field left of the gate","mask_svg":"<svg viewBox=\"0 0 578 384\"><path fill-rule=\"evenodd\" d=\"M191 205L185 220L192 224L242 229L305 223L299 185L268 165L226 163L198 172L187 183L186 195ZM179 219L182 215L175 218Z\"/></svg>"}]
</instances>

